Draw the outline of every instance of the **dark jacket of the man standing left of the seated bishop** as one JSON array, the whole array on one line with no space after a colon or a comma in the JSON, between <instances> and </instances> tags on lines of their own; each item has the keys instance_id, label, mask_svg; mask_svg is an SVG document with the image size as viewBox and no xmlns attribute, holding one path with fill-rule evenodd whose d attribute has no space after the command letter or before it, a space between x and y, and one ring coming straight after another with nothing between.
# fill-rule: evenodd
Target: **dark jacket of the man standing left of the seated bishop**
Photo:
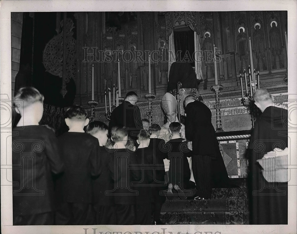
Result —
<instances>
[{"instance_id":1,"label":"dark jacket of the man standing left of the seated bishop","mask_svg":"<svg viewBox=\"0 0 297 234\"><path fill-rule=\"evenodd\" d=\"M111 130L113 126L125 127L129 133L128 136L136 140L138 133L143 129L139 107L124 101L111 114L109 129Z\"/></svg>"}]
</instances>

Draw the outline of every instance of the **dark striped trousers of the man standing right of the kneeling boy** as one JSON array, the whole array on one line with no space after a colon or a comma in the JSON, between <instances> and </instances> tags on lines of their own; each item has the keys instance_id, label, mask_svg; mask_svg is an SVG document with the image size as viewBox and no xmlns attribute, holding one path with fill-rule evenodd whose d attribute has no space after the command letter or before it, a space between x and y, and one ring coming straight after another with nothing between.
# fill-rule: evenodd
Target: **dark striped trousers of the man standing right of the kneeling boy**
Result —
<instances>
[{"instance_id":1,"label":"dark striped trousers of the man standing right of the kneeling boy","mask_svg":"<svg viewBox=\"0 0 297 234\"><path fill-rule=\"evenodd\" d=\"M211 156L192 155L192 171L197 194L205 199L211 198Z\"/></svg>"}]
</instances>

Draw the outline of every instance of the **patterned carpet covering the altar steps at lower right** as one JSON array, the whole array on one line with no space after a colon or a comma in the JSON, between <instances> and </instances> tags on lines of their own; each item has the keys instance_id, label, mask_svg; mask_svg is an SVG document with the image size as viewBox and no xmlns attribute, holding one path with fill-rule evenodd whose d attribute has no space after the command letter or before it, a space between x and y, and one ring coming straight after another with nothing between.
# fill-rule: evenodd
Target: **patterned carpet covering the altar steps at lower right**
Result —
<instances>
[{"instance_id":1,"label":"patterned carpet covering the altar steps at lower right","mask_svg":"<svg viewBox=\"0 0 297 234\"><path fill-rule=\"evenodd\" d=\"M166 200L161 220L173 224L249 224L247 186L237 179L237 188L213 189L212 199Z\"/></svg>"}]
</instances>

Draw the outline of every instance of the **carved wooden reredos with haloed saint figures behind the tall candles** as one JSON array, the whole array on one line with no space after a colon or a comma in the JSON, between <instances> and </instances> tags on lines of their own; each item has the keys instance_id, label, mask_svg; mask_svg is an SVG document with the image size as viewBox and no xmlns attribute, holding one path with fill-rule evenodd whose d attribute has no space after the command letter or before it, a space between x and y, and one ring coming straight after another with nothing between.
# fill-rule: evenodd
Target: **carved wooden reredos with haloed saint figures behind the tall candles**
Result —
<instances>
[{"instance_id":1,"label":"carved wooden reredos with haloed saint figures behind the tall candles","mask_svg":"<svg viewBox=\"0 0 297 234\"><path fill-rule=\"evenodd\" d=\"M129 51L135 56L137 51L159 51L159 55L151 55L151 58L164 58L151 62L151 86L152 92L162 97L167 89L168 39L173 31L182 27L195 31L199 38L203 76L199 91L209 90L214 85L214 66L204 61L203 56L204 50L213 44L220 51L221 59L217 64L220 84L240 90L238 78L250 63L249 38L253 41L254 67L261 71L261 83L283 81L287 71L286 19L286 12L280 11L76 12L73 23L67 20L69 26L65 32L65 81L70 78L75 81L74 103L87 107L91 100L94 64L94 98L98 106L103 106L105 90L112 89L113 84L117 86L119 60L121 96L135 91L143 98L148 93L148 54L144 54L142 60L124 62L121 54L119 57L113 54L109 61L102 58L102 52ZM76 41L71 35L72 27L76 28ZM48 42L43 59L48 72L64 79L61 74L63 33ZM56 62L52 62L54 58Z\"/></svg>"}]
</instances>

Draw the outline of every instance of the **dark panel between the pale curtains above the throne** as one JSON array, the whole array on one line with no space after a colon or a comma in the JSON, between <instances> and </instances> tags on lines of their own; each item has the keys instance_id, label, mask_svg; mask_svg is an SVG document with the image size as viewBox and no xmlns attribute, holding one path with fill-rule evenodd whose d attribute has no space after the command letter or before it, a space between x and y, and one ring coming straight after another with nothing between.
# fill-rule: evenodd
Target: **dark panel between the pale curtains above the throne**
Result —
<instances>
[{"instance_id":1,"label":"dark panel between the pale curtains above the throne","mask_svg":"<svg viewBox=\"0 0 297 234\"><path fill-rule=\"evenodd\" d=\"M194 31L188 30L188 31L179 31L175 32L173 31L173 37L174 37L174 48L175 53L177 54L178 51L180 52L180 55L176 57L176 61L185 61L191 63L192 67L195 67L194 63Z\"/></svg>"}]
</instances>

